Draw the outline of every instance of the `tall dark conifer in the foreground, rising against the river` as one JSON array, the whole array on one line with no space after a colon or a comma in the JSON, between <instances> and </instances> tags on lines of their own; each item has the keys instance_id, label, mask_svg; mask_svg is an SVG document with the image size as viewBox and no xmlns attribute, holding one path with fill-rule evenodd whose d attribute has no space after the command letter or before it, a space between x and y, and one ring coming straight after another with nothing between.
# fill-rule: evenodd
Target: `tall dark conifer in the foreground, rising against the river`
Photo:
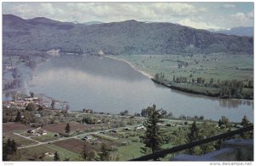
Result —
<instances>
[{"instance_id":1,"label":"tall dark conifer in the foreground, rising against the river","mask_svg":"<svg viewBox=\"0 0 256 166\"><path fill-rule=\"evenodd\" d=\"M157 110L156 106L148 106L148 119L143 123L146 127L145 134L140 138L143 140L145 147L151 149L152 152L157 152L163 144L164 133L160 129L160 117L162 117L162 109Z\"/></svg>"}]
</instances>

